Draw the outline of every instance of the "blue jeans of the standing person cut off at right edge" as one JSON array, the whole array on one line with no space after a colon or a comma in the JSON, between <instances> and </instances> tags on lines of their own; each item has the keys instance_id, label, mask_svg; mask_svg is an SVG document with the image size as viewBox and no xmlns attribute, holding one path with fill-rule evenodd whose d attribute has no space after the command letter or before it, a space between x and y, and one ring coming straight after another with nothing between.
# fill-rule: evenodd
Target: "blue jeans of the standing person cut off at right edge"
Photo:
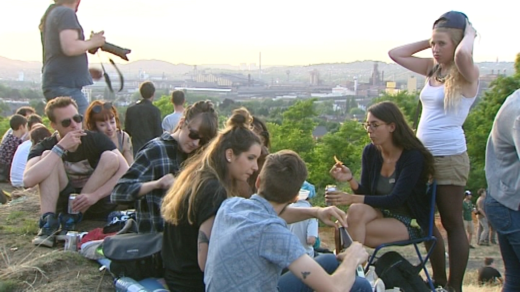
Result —
<instances>
[{"instance_id":1,"label":"blue jeans of the standing person cut off at right edge","mask_svg":"<svg viewBox=\"0 0 520 292\"><path fill-rule=\"evenodd\" d=\"M502 292L520 291L520 211L505 207L489 193L484 201L484 211L498 234L505 268Z\"/></svg>"}]
</instances>

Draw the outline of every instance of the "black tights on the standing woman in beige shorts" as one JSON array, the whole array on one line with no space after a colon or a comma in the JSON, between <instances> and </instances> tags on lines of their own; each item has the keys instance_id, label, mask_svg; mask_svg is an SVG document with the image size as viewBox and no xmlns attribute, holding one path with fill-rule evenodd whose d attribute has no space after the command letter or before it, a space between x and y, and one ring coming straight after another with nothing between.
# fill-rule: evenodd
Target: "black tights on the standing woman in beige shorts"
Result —
<instances>
[{"instance_id":1,"label":"black tights on the standing woman in beige shorts","mask_svg":"<svg viewBox=\"0 0 520 292\"><path fill-rule=\"evenodd\" d=\"M462 292L462 279L466 271L467 258L470 255L470 244L467 242L462 222L463 198L463 186L437 185L437 208L439 209L443 227L448 233L450 275L447 284L456 292ZM446 265L444 241L436 228L433 232L437 237L437 245L432 253L430 262L432 263L435 281L443 285L446 281L446 273L442 272L442 268Z\"/></svg>"}]
</instances>

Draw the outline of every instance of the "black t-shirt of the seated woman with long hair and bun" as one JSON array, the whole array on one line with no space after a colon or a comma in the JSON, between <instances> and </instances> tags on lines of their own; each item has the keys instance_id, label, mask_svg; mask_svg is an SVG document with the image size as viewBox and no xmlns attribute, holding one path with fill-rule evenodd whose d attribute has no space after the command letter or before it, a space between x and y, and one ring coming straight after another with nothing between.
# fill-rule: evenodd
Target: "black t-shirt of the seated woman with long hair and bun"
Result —
<instances>
[{"instance_id":1,"label":"black t-shirt of the seated woman with long hair and bun","mask_svg":"<svg viewBox=\"0 0 520 292\"><path fill-rule=\"evenodd\" d=\"M194 205L195 220L188 223L188 202L182 207L184 218L178 225L165 222L162 257L165 268L164 280L171 291L204 292L204 273L199 268L197 238L204 221L215 216L220 204L226 199L225 189L213 179L201 185Z\"/></svg>"}]
</instances>

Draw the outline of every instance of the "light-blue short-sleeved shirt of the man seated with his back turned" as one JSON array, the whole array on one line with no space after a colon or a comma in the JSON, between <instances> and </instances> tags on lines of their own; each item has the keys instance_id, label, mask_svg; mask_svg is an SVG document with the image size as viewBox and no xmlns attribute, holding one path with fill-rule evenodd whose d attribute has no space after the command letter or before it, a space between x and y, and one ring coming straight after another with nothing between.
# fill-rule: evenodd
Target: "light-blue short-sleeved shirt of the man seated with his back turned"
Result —
<instances>
[{"instance_id":1,"label":"light-blue short-sleeved shirt of the man seated with his back turned","mask_svg":"<svg viewBox=\"0 0 520 292\"><path fill-rule=\"evenodd\" d=\"M277 291L282 269L303 255L300 240L265 198L228 198L211 231L206 291Z\"/></svg>"}]
</instances>

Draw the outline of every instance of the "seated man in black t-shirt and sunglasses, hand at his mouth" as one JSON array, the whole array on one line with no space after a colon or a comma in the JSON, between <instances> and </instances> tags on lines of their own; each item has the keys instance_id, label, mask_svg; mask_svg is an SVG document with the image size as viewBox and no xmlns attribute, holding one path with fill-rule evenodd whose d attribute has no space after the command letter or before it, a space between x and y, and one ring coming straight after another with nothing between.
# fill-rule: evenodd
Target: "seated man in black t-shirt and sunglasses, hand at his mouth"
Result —
<instances>
[{"instance_id":1,"label":"seated man in black t-shirt and sunglasses, hand at his mouth","mask_svg":"<svg viewBox=\"0 0 520 292\"><path fill-rule=\"evenodd\" d=\"M40 188L42 216L33 244L52 247L83 216L107 219L115 208L108 195L128 164L105 134L83 130L83 116L70 97L50 100L45 113L57 132L31 149L23 183L27 188ZM69 206L72 193L77 195Z\"/></svg>"}]
</instances>

